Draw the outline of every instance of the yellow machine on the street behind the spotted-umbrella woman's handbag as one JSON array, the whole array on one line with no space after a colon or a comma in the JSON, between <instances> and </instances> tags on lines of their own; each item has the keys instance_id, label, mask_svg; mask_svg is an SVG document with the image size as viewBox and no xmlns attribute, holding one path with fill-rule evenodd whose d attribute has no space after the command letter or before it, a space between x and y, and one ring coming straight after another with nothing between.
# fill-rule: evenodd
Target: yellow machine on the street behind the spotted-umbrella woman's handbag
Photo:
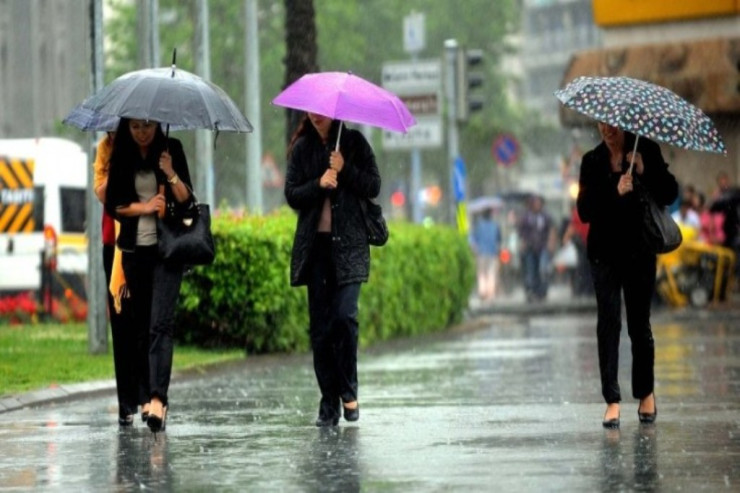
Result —
<instances>
[{"instance_id":1,"label":"yellow machine on the street behind the spotted-umbrella woman's handbag","mask_svg":"<svg viewBox=\"0 0 740 493\"><path fill-rule=\"evenodd\" d=\"M656 292L671 306L704 307L725 300L735 272L735 253L696 238L696 230L681 227L683 242L658 255Z\"/></svg>"}]
</instances>

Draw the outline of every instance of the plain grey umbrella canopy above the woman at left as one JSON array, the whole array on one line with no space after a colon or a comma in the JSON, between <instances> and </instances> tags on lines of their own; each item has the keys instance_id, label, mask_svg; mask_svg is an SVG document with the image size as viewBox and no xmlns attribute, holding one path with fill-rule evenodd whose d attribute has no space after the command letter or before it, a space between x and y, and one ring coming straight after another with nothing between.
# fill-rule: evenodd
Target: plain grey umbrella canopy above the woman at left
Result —
<instances>
[{"instance_id":1,"label":"plain grey umbrella canopy above the woman at left","mask_svg":"<svg viewBox=\"0 0 740 493\"><path fill-rule=\"evenodd\" d=\"M151 120L182 130L252 131L223 89L174 66L124 74L73 109L64 121L82 128L100 124L106 116Z\"/></svg>"}]
</instances>

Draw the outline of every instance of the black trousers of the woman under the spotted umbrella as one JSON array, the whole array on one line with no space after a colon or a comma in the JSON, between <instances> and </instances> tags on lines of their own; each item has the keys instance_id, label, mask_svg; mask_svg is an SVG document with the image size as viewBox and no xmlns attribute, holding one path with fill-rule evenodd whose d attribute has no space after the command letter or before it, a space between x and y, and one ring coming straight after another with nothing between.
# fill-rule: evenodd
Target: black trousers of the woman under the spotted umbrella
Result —
<instances>
[{"instance_id":1,"label":"black trousers of the woman under the spotted umbrella","mask_svg":"<svg viewBox=\"0 0 740 493\"><path fill-rule=\"evenodd\" d=\"M622 291L627 333L632 343L632 396L642 399L653 392L655 343L650 327L650 304L655 290L655 255L613 262L594 260L591 274L596 291L601 393L607 404L621 401L617 374L622 328Z\"/></svg>"}]
</instances>

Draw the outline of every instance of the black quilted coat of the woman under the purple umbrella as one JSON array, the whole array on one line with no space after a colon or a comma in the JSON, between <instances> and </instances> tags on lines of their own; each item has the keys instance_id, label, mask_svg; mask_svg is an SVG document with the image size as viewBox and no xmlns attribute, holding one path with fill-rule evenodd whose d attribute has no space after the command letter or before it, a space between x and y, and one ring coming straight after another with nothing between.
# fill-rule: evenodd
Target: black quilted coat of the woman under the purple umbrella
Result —
<instances>
[{"instance_id":1,"label":"black quilted coat of the woman under the purple umbrella","mask_svg":"<svg viewBox=\"0 0 740 493\"><path fill-rule=\"evenodd\" d=\"M310 125L309 122L306 122ZM360 200L380 193L380 173L375 155L363 135L345 128L340 141L344 167L335 190L319 186L321 175L329 167L334 138L323 144L313 129L293 145L285 177L285 198L298 212L290 283L305 285L309 255L321 217L324 199L331 200L332 257L338 285L365 282L370 273L370 246L360 209Z\"/></svg>"}]
</instances>

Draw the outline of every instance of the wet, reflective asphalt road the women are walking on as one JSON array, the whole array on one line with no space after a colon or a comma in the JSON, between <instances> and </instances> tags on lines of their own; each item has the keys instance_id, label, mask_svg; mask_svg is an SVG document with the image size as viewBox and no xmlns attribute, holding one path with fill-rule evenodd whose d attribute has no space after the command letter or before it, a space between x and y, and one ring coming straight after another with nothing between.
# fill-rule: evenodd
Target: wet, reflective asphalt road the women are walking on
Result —
<instances>
[{"instance_id":1,"label":"wet, reflective asphalt road the women are walking on","mask_svg":"<svg viewBox=\"0 0 740 493\"><path fill-rule=\"evenodd\" d=\"M360 421L330 429L305 355L175 377L156 438L112 394L0 414L0 489L740 491L739 323L654 318L654 426L623 331L606 431L593 315L478 322L362 351Z\"/></svg>"}]
</instances>

